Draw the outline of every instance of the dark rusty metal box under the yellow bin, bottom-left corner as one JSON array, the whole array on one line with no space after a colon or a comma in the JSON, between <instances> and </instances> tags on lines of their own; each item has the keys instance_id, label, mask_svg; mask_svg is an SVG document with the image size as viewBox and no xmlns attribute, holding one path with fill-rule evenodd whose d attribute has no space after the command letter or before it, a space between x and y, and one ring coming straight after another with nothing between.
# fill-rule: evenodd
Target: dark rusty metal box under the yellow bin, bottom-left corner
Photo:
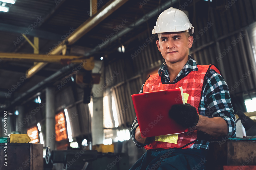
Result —
<instances>
[{"instance_id":1,"label":"dark rusty metal box under the yellow bin, bottom-left corner","mask_svg":"<svg viewBox=\"0 0 256 170\"><path fill-rule=\"evenodd\" d=\"M0 169L43 170L42 146L33 143L8 143L5 151L5 143L0 143ZM8 152L8 166L4 165L5 152Z\"/></svg>"}]
</instances>

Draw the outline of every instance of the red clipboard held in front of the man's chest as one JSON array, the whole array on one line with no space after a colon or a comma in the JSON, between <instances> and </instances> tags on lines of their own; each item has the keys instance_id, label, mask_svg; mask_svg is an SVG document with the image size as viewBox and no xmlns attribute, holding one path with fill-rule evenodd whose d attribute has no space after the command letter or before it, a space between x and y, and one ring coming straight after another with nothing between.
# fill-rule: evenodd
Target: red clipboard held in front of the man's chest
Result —
<instances>
[{"instance_id":1,"label":"red clipboard held in front of the man's chest","mask_svg":"<svg viewBox=\"0 0 256 170\"><path fill-rule=\"evenodd\" d=\"M182 87L132 95L142 137L178 134L188 131L168 115L174 104L185 104Z\"/></svg>"}]
</instances>

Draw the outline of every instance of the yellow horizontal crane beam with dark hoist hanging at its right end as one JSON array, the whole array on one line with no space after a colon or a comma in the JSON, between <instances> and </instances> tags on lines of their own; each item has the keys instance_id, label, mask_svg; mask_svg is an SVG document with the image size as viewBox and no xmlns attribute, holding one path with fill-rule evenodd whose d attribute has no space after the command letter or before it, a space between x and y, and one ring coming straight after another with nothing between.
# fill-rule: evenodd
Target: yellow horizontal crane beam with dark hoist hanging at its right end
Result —
<instances>
[{"instance_id":1,"label":"yellow horizontal crane beam with dark hoist hanging at its right end","mask_svg":"<svg viewBox=\"0 0 256 170\"><path fill-rule=\"evenodd\" d=\"M24 38L28 43L34 48L34 54L19 54L19 53L0 53L0 59L5 61L26 61L34 62L34 66L42 67L45 63L61 63L64 65L70 63L77 63L80 67L72 74L76 74L76 83L84 89L83 103L90 103L90 94L92 89L92 84L98 84L100 81L100 74L92 73L91 70L94 68L94 57L84 58L78 56L66 56L68 53L68 48L66 44L60 45L62 47L62 55L49 55L49 54L39 54L39 39L34 37L34 43L32 43L26 35ZM78 66L78 67L79 67ZM83 68L83 69L81 69ZM32 67L26 71L26 77L30 78L31 72L34 72L36 67Z\"/></svg>"}]
</instances>

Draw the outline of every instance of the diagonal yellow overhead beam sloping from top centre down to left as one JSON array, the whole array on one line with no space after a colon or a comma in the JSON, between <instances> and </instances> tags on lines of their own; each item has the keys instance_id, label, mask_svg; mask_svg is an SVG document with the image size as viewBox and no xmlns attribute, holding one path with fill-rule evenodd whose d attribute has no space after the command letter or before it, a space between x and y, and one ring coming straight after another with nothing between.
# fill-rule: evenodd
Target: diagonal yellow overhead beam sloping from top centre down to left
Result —
<instances>
[{"instance_id":1,"label":"diagonal yellow overhead beam sloping from top centre down to left","mask_svg":"<svg viewBox=\"0 0 256 170\"><path fill-rule=\"evenodd\" d=\"M112 2L108 2L105 6L105 8L101 8L97 14L89 18L87 21L85 21L82 25L80 25L68 38L67 42L68 45L74 44L77 40L79 40L84 34L89 32L92 28L94 28L96 25L98 25L101 21L103 21L105 18L107 18L109 15L111 15L116 9L121 7L124 3L126 3L128 0L114 0ZM62 41L62 44L64 44L66 41ZM49 54L60 54L62 51L62 45L60 45L58 48L50 52ZM40 64L40 67L37 65ZM35 73L37 73L42 67L46 66L47 63L38 63L30 68L28 77L33 76ZM27 72L28 73L28 72Z\"/></svg>"}]
</instances>

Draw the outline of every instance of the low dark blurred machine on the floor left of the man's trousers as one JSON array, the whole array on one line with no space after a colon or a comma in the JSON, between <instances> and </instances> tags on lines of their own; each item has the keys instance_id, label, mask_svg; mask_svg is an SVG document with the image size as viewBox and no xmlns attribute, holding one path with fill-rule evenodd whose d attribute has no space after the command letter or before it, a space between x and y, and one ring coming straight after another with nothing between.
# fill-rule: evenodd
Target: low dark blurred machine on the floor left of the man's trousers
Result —
<instances>
[{"instance_id":1,"label":"low dark blurred machine on the floor left of the man's trousers","mask_svg":"<svg viewBox=\"0 0 256 170\"><path fill-rule=\"evenodd\" d=\"M98 170L127 169L129 166L126 153L102 153L96 150L69 149L53 150L45 148L44 170L50 170L54 163L63 163L60 170Z\"/></svg>"}]
</instances>

